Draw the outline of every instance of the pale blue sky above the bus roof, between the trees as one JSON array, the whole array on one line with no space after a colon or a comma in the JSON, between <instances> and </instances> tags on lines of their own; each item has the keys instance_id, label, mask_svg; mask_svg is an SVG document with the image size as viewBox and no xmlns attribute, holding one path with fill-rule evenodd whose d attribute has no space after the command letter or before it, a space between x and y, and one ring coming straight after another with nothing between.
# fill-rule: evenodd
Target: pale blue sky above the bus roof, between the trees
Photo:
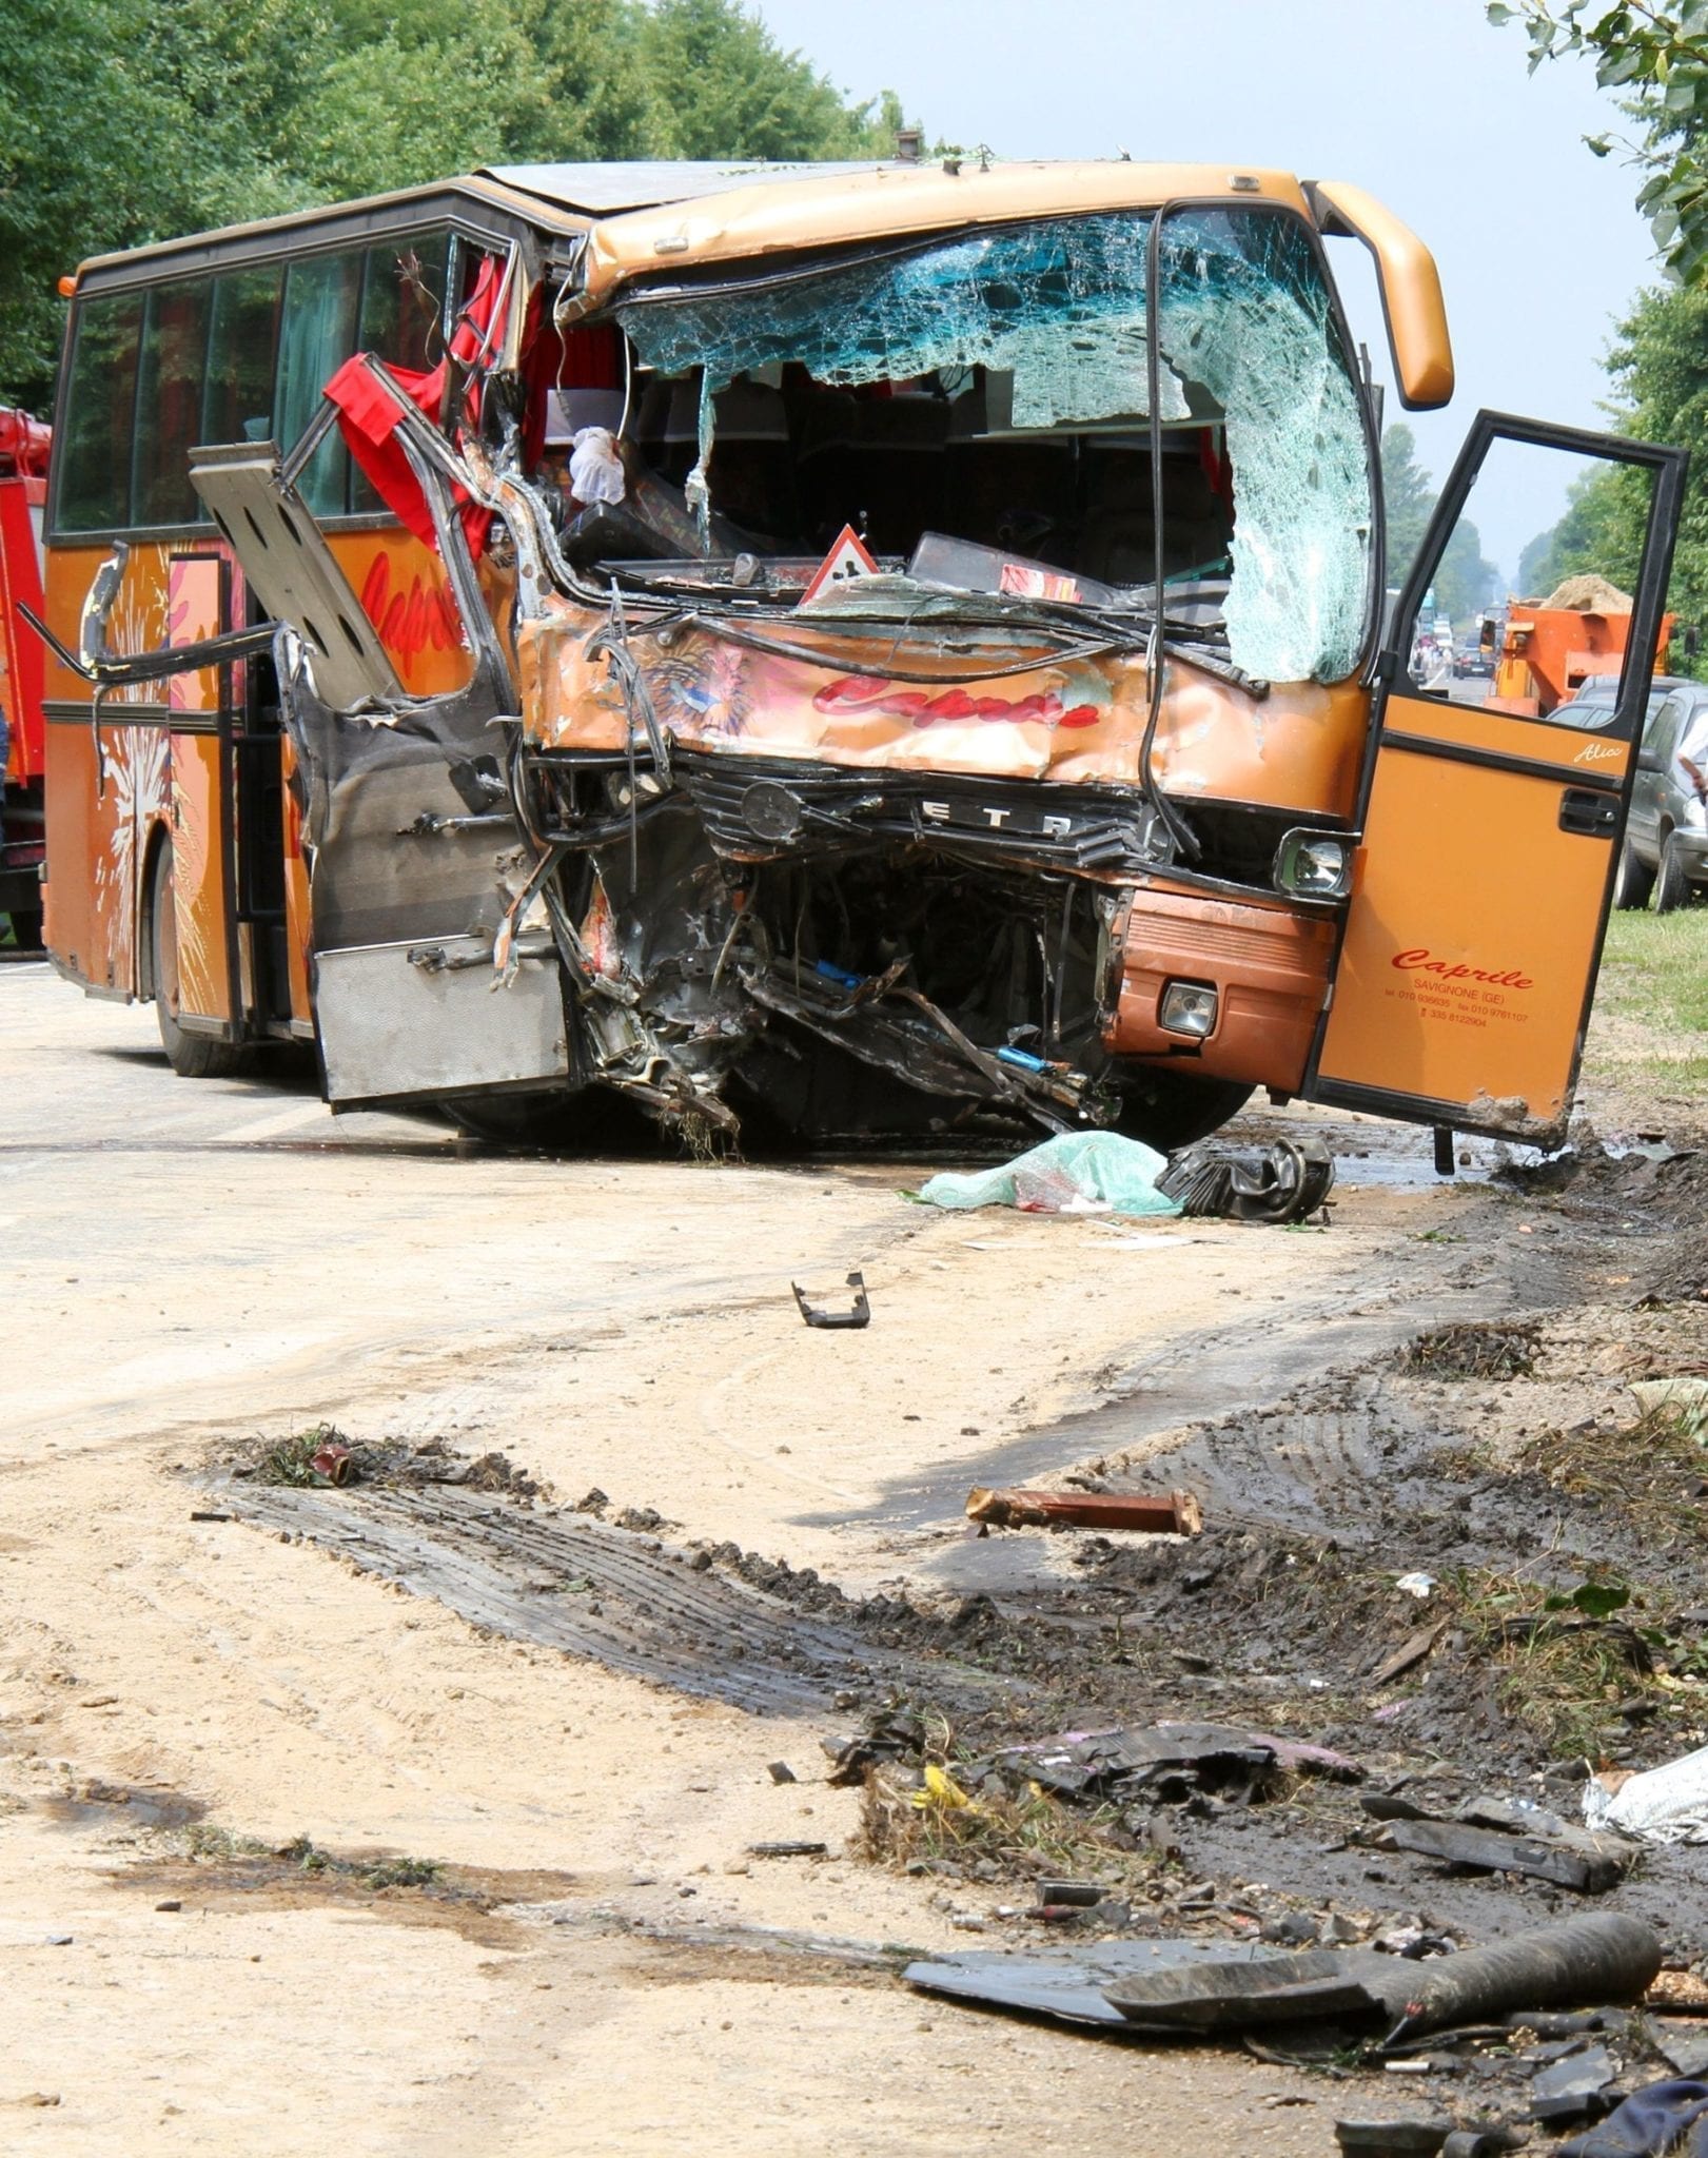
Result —
<instances>
[{"instance_id":1,"label":"pale blue sky above the bus roof, between the trees","mask_svg":"<svg viewBox=\"0 0 1708 2158\"><path fill-rule=\"evenodd\" d=\"M1387 416L1434 479L1477 406L1604 427L1600 356L1656 276L1637 181L1585 134L1628 134L1585 63L1527 73L1482 0L750 0L854 97L895 88L927 138L1003 158L1281 166L1369 188L1441 263L1458 393ZM1367 257L1333 242L1354 334L1391 380ZM1482 490L1479 490L1482 494ZM1473 503L1512 576L1557 501Z\"/></svg>"}]
</instances>

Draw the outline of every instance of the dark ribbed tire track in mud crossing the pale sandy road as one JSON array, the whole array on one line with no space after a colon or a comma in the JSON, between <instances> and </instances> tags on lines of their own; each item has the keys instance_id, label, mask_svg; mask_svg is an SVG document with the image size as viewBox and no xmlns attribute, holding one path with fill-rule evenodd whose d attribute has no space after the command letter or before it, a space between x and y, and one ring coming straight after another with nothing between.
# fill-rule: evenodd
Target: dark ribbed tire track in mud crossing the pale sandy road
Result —
<instances>
[{"instance_id":1,"label":"dark ribbed tire track in mud crossing the pale sandy road","mask_svg":"<svg viewBox=\"0 0 1708 2158\"><path fill-rule=\"evenodd\" d=\"M451 1487L304 1491L224 1474L198 1483L235 1519L302 1536L474 1627L755 1716L824 1711L841 1690L917 1677L850 1627L804 1618L692 1552L589 1515Z\"/></svg>"}]
</instances>

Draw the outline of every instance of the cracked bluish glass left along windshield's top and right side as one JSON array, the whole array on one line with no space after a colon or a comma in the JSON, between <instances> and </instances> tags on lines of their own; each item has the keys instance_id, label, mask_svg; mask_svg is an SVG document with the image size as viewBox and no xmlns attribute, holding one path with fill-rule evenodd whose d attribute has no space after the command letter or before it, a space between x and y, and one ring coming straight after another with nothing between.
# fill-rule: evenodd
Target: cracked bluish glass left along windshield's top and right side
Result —
<instances>
[{"instance_id":1,"label":"cracked bluish glass left along windshield's top and right side","mask_svg":"<svg viewBox=\"0 0 1708 2158\"><path fill-rule=\"evenodd\" d=\"M1011 375L1016 429L1143 419L1147 214L1048 218L886 257L619 309L640 358L714 397L763 367L822 384ZM1372 475L1333 298L1307 227L1272 209L1167 218L1162 421L1225 427L1229 652L1275 682L1344 680L1369 613Z\"/></svg>"}]
</instances>

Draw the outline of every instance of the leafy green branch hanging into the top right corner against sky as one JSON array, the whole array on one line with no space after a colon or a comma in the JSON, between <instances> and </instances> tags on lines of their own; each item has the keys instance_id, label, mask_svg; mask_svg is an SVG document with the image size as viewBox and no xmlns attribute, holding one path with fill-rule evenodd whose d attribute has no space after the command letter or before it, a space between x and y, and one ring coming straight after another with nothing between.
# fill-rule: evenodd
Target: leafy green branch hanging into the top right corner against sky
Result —
<instances>
[{"instance_id":1,"label":"leafy green branch hanging into the top right corner against sky","mask_svg":"<svg viewBox=\"0 0 1708 2158\"><path fill-rule=\"evenodd\" d=\"M1624 147L1639 173L1637 207L1671 276L1708 281L1708 0L1652 6L1648 0L1492 0L1492 24L1516 22L1529 37L1531 73L1566 54L1596 63L1596 82L1626 91L1637 142L1589 136L1607 158Z\"/></svg>"}]
</instances>

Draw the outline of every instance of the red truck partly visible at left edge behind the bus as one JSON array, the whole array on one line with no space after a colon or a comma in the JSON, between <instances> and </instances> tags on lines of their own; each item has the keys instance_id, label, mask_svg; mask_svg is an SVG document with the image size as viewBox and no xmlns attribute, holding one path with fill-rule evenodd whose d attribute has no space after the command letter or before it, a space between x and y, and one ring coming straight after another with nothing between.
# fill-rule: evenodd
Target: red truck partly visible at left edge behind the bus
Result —
<instances>
[{"instance_id":1,"label":"red truck partly visible at left edge behind the bus","mask_svg":"<svg viewBox=\"0 0 1708 2158\"><path fill-rule=\"evenodd\" d=\"M19 604L41 609L41 511L47 501L47 427L0 406L0 915L17 943L41 945L45 764L43 652Z\"/></svg>"}]
</instances>

